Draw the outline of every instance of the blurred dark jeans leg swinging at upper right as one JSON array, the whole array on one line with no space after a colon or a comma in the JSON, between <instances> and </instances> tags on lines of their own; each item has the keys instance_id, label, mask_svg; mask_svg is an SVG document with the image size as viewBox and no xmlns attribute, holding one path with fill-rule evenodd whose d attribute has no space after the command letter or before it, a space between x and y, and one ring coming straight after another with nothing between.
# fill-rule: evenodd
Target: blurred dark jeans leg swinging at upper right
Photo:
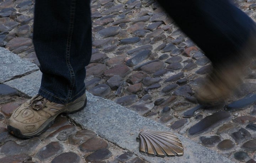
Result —
<instances>
[{"instance_id":1,"label":"blurred dark jeans leg swinging at upper right","mask_svg":"<svg viewBox=\"0 0 256 163\"><path fill-rule=\"evenodd\" d=\"M239 62L255 23L229 0L158 0L213 66ZM247 56L244 56L246 58Z\"/></svg>"}]
</instances>

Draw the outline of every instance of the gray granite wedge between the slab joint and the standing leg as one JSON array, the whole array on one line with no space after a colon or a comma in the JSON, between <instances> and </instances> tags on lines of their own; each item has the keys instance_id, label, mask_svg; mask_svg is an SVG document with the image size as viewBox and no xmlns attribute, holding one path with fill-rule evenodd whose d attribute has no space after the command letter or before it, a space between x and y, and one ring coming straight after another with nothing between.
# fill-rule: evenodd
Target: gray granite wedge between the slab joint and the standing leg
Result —
<instances>
[{"instance_id":1,"label":"gray granite wedge between the slab joint and the standing leg","mask_svg":"<svg viewBox=\"0 0 256 163\"><path fill-rule=\"evenodd\" d=\"M4 82L4 84L12 88L16 88L17 90L27 94L28 96L33 97L38 93L41 85L41 78L42 72L36 71L21 78Z\"/></svg>"}]
</instances>

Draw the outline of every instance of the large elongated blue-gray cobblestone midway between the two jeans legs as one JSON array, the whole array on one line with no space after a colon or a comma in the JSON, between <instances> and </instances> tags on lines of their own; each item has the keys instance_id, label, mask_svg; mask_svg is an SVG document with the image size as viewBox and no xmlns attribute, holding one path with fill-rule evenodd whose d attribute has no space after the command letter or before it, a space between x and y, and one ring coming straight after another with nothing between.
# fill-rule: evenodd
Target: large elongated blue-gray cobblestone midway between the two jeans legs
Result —
<instances>
[{"instance_id":1,"label":"large elongated blue-gray cobblestone midway between the two jeans legs","mask_svg":"<svg viewBox=\"0 0 256 163\"><path fill-rule=\"evenodd\" d=\"M130 58L126 61L126 65L129 67L135 66L140 62L144 61L151 54L151 50L143 50L135 55L133 58Z\"/></svg>"}]
</instances>

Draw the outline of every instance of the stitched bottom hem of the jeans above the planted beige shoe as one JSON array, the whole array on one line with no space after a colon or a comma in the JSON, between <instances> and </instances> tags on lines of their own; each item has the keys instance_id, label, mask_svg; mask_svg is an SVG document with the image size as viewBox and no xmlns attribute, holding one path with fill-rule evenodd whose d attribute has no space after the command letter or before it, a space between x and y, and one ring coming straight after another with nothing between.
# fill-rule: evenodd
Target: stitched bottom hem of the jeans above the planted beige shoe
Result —
<instances>
[{"instance_id":1,"label":"stitched bottom hem of the jeans above the planted beige shoe","mask_svg":"<svg viewBox=\"0 0 256 163\"><path fill-rule=\"evenodd\" d=\"M48 99L51 102L59 103L59 104L67 104L67 103L73 102L74 100L81 97L85 93L85 91L86 91L86 89L84 87L83 89L81 89L81 91L79 91L77 94L75 94L74 96L72 96L68 99L63 99L63 98L57 97L57 95L54 95L53 93L50 93L49 91L46 91L43 88L39 89L38 94L40 96Z\"/></svg>"}]
</instances>

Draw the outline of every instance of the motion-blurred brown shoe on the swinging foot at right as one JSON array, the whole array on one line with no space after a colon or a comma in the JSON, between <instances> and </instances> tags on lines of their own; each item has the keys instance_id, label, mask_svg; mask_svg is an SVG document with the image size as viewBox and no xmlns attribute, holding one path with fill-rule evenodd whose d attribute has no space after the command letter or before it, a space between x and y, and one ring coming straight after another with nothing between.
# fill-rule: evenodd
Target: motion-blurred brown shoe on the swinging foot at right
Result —
<instances>
[{"instance_id":1,"label":"motion-blurred brown shoe on the swinging foot at right","mask_svg":"<svg viewBox=\"0 0 256 163\"><path fill-rule=\"evenodd\" d=\"M219 69L213 69L195 93L198 103L217 105L223 102L242 82L243 76L241 65L226 65Z\"/></svg>"}]
</instances>

